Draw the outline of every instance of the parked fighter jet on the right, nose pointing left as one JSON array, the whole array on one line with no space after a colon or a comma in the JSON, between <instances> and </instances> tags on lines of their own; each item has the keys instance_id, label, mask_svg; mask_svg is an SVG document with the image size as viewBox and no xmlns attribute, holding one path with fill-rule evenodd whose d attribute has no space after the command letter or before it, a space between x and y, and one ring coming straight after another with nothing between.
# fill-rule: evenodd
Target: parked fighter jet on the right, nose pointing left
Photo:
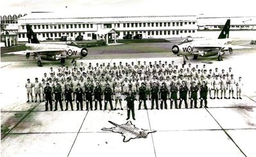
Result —
<instances>
[{"instance_id":1,"label":"parked fighter jet on the right, nose pointing left","mask_svg":"<svg viewBox=\"0 0 256 157\"><path fill-rule=\"evenodd\" d=\"M187 37L180 44L173 45L171 50L174 54L183 56L184 64L188 60L187 56L194 56L193 59L196 60L198 56L218 55L218 60L221 61L225 51L230 54L233 53L234 46L232 45L232 40L228 38L229 29L230 19L226 21L218 39L193 41L192 37Z\"/></svg>"}]
</instances>

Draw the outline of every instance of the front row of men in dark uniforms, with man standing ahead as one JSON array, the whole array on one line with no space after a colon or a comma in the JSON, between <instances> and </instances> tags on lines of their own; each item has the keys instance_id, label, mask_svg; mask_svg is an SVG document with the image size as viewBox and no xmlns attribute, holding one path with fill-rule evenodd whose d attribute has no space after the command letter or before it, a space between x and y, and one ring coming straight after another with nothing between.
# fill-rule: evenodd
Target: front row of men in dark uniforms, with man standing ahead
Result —
<instances>
[{"instance_id":1,"label":"front row of men in dark uniforms, with man standing ahead","mask_svg":"<svg viewBox=\"0 0 256 157\"><path fill-rule=\"evenodd\" d=\"M94 88L94 91L92 90L92 87L89 87L85 89L86 91L86 110L89 110L89 103L90 103L90 110L92 110L92 93L94 92L94 101L95 101L95 109L97 110L98 108L98 102L99 102L99 109L102 110L102 104L101 104L101 96L104 93L105 95L105 106L104 110L107 110L107 103L110 103L110 108L113 110L113 105L112 105L112 89L109 87L107 84L107 87L105 88L104 91L101 90L101 87L99 86L99 83L96 83L96 87ZM180 103L178 106L177 103L177 92L178 90L180 91ZM185 85L185 81L182 82L182 85L180 85L180 89L175 86L175 83L173 83L173 86L171 86L170 91L167 89L165 83L162 83L162 87L160 88L160 108L163 109L163 106L165 109L167 109L167 95L168 92L171 92L171 108L173 108L173 102L175 103L175 108L181 108L182 106L182 101L185 103L185 108L188 108L187 106L187 92L188 92L188 87ZM200 90L200 108L203 106L203 101L205 103L205 108L207 108L207 92L208 92L208 87L205 85L205 81L203 81L200 89L198 86L196 86L196 83L193 82L191 86L191 106L194 103L194 108L197 107L197 99L198 99L198 90ZM57 83L57 87L52 91L52 88L49 87L49 83L46 83L46 87L44 88L44 94L45 94L45 101L46 101L46 111L48 110L48 103L50 104L50 110L53 110L53 104L52 104L52 93L54 92L55 94L55 111L58 110L58 102L60 103L60 109L63 111L63 106L62 106L62 88L60 87L60 84ZM154 108L154 103L156 104L157 110L158 108L158 92L159 88L157 87L156 83L153 83L153 87L151 87L151 110ZM73 103L72 103L72 93L73 90L72 88L67 85L67 88L65 88L64 94L65 94L65 103L66 103L66 108L65 111L68 110L68 104L71 105L71 110L73 109ZM76 110L83 110L83 90L80 88L80 84L78 84L78 88L74 91L74 94L76 94ZM132 111L132 114L134 113L134 101L135 101L135 96L132 94L132 91L129 91L129 93L126 93L126 101L128 102L128 113L130 115L130 110ZM121 101L121 97L117 96L115 100L115 108L117 104L117 99ZM132 102L132 103L131 103ZM144 103L144 108L147 110L146 106L146 87L144 83L142 83L142 86L139 88L139 110L141 110L141 104L142 102ZM121 103L120 103L121 104ZM133 104L133 105L131 105ZM130 110L129 110L130 109ZM123 108L121 107L121 110ZM134 117L133 117L134 118Z\"/></svg>"}]
</instances>

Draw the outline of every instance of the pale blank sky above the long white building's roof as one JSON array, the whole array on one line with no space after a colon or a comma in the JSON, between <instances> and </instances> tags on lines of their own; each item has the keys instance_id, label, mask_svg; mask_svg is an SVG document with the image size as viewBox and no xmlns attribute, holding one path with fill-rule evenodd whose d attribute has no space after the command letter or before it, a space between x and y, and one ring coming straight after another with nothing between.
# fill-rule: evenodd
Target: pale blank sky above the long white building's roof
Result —
<instances>
[{"instance_id":1,"label":"pale blank sky above the long white building's roof","mask_svg":"<svg viewBox=\"0 0 256 157\"><path fill-rule=\"evenodd\" d=\"M5 0L0 15L30 12L83 14L90 17L133 15L256 16L255 0Z\"/></svg>"}]
</instances>

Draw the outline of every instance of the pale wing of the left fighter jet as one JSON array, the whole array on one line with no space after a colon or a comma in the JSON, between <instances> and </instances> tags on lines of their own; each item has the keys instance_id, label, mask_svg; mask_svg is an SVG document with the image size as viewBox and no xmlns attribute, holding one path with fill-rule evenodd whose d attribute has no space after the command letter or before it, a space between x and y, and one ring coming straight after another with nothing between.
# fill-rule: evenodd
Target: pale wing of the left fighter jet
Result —
<instances>
[{"instance_id":1,"label":"pale wing of the left fighter jet","mask_svg":"<svg viewBox=\"0 0 256 157\"><path fill-rule=\"evenodd\" d=\"M27 53L30 53L33 56L33 54L37 54L37 53L40 53L41 55L54 55L54 54L60 54L62 52L65 52L65 49L25 50L25 51L15 51L15 52L12 52L12 53L5 53L5 54L26 55Z\"/></svg>"}]
</instances>

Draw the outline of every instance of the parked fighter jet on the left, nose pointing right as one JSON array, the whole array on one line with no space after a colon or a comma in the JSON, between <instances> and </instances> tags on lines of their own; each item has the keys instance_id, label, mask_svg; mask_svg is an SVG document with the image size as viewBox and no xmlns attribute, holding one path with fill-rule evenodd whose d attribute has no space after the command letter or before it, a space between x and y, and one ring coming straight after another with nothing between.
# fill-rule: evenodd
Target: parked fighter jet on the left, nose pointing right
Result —
<instances>
[{"instance_id":1,"label":"parked fighter jet on the left, nose pointing right","mask_svg":"<svg viewBox=\"0 0 256 157\"><path fill-rule=\"evenodd\" d=\"M27 59L33 56L37 59L38 67L42 67L41 60L60 60L60 63L65 63L65 59L73 59L73 63L77 58L83 58L88 54L85 47L81 47L73 41L67 41L65 44L42 44L37 39L37 35L33 32L29 24L26 25L26 29L28 37L26 51L16 51L6 54L22 54L26 55Z\"/></svg>"}]
</instances>

